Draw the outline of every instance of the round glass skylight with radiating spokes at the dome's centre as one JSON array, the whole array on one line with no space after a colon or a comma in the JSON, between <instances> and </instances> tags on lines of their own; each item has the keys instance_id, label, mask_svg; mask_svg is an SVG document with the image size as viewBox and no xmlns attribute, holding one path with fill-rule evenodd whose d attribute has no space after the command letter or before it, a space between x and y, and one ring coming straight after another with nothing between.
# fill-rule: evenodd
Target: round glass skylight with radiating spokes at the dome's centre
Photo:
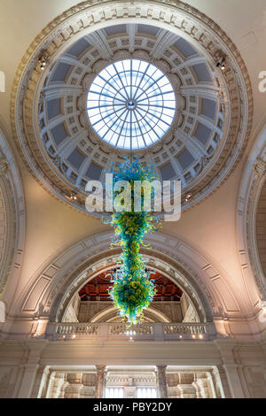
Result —
<instances>
[{"instance_id":1,"label":"round glass skylight with radiating spokes at the dome's centre","mask_svg":"<svg viewBox=\"0 0 266 416\"><path fill-rule=\"evenodd\" d=\"M176 97L168 77L138 59L108 65L92 82L87 110L99 137L125 150L158 142L171 127Z\"/></svg>"}]
</instances>

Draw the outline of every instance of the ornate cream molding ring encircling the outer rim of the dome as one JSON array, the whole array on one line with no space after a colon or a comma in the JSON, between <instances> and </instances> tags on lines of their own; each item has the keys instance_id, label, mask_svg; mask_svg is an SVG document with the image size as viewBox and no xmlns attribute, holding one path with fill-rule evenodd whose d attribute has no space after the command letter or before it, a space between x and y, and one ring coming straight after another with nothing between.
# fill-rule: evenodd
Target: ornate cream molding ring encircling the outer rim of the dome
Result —
<instances>
[{"instance_id":1,"label":"ornate cream molding ring encircling the outer rim of the dome","mask_svg":"<svg viewBox=\"0 0 266 416\"><path fill-rule=\"evenodd\" d=\"M239 50L221 27L188 4L174 0L134 3L92 0L77 4L54 19L31 43L15 75L11 98L13 136L16 141L19 139L21 154L27 160L37 181L52 195L69 204L66 194L69 193L69 189L76 190L73 184L69 181L66 185L59 172L47 176L29 144L32 140L33 143L35 142L36 134L32 124L32 119L36 116L32 101L34 96L40 95L46 76L44 71L43 76L40 77L37 58L41 50L47 50L52 65L71 44L83 35L88 35L92 30L110 26L113 24L113 19L116 23L136 22L136 19L139 19L140 22L155 24L182 35L206 55L209 63L212 62L217 50L223 50L228 57L228 68L223 74L224 78L221 75L219 79L219 88L223 82L226 84L223 88L223 107L225 105L227 108L225 112L229 112L229 107L232 112L231 116L226 113L225 117L228 119L228 125L224 128L224 134L227 135L228 132L228 137L226 150L224 148L223 151L227 152L227 156L223 158L223 162L222 159L213 158L212 162L207 164L208 172L212 172L211 176L208 175L208 179L203 169L197 178L198 182L195 183L193 198L184 204L184 209L188 208L210 195L232 172L246 147L253 118L251 82ZM36 153L41 160L42 152L36 150ZM220 153L222 155L222 148ZM82 201L74 202L73 206L84 211Z\"/></svg>"}]
</instances>

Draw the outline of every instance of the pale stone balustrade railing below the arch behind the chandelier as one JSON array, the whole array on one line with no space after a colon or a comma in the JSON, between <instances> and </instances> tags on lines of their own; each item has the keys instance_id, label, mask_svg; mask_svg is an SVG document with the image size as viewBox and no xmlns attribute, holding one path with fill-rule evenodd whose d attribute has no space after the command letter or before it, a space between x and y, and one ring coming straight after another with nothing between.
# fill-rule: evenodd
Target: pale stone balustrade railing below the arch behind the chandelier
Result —
<instances>
[{"instance_id":1,"label":"pale stone balustrade railing below the arch behind the chandelier","mask_svg":"<svg viewBox=\"0 0 266 416\"><path fill-rule=\"evenodd\" d=\"M124 323L49 323L47 339L51 341L90 339L90 340L130 340L130 341L182 341L205 340L217 337L213 323L139 323L128 327Z\"/></svg>"}]
</instances>

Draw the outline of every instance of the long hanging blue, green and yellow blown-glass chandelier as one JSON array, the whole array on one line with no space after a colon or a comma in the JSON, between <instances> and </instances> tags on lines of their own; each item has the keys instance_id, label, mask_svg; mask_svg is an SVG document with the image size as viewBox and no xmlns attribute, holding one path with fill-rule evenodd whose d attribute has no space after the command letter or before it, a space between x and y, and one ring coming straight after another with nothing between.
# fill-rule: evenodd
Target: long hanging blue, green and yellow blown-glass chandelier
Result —
<instances>
[{"instance_id":1,"label":"long hanging blue, green and yellow blown-glass chandelier","mask_svg":"<svg viewBox=\"0 0 266 416\"><path fill-rule=\"evenodd\" d=\"M109 294L120 315L130 324L136 324L143 319L143 310L148 308L156 294L154 282L150 279L153 272L147 271L145 259L139 250L144 244L145 235L158 229L160 222L151 212L145 211L145 189L141 192L141 209L138 212L134 210L134 186L136 181L146 181L149 187L156 178L153 167L144 168L137 159L132 162L127 159L117 172L112 170L111 173L113 189L106 189L106 192L112 191L115 199L123 197L121 189L115 190L115 184L127 181L131 185L131 202L126 207L127 211L117 210L108 220L104 220L114 228L113 243L122 250L117 268L111 275L113 286L109 288Z\"/></svg>"}]
</instances>

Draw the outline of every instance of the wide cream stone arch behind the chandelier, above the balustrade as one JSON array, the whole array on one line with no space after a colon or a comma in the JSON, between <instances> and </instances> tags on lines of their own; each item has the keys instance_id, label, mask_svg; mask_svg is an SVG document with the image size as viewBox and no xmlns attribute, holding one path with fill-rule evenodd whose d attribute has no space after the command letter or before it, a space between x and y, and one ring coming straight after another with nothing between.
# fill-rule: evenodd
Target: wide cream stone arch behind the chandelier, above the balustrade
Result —
<instances>
[{"instance_id":1,"label":"wide cream stone arch behind the chandelier, above the balustrade","mask_svg":"<svg viewBox=\"0 0 266 416\"><path fill-rule=\"evenodd\" d=\"M116 264L120 251L110 249L112 235L90 236L46 261L22 292L18 312L39 320L61 321L74 293ZM148 235L145 241L150 244L150 249L142 250L148 266L188 294L201 321L223 320L232 310L240 314L227 277L199 250L160 233Z\"/></svg>"}]
</instances>

